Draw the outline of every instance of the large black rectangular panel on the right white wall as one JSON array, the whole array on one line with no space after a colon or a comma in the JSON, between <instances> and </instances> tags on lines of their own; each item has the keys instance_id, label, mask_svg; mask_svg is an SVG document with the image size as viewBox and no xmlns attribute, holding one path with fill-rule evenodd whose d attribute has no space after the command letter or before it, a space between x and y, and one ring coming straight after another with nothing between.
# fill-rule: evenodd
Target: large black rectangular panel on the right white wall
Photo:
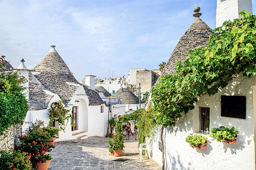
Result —
<instances>
[{"instance_id":1,"label":"large black rectangular panel on the right white wall","mask_svg":"<svg viewBox=\"0 0 256 170\"><path fill-rule=\"evenodd\" d=\"M221 96L221 116L246 119L246 96Z\"/></svg>"}]
</instances>

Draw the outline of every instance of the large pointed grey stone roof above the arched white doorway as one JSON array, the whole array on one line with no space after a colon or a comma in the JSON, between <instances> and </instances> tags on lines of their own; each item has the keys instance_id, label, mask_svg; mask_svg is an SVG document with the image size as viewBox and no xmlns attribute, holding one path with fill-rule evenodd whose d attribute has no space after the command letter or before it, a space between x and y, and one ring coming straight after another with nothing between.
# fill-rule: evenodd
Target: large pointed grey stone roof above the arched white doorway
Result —
<instances>
[{"instance_id":1,"label":"large pointed grey stone roof above the arched white doorway","mask_svg":"<svg viewBox=\"0 0 256 170\"><path fill-rule=\"evenodd\" d=\"M55 46L51 47L52 49L32 71L39 72L39 74L35 74L35 77L43 87L52 93L58 94L63 99L64 104L67 105L81 84L79 84L67 64L55 50ZM89 105L104 104L96 91L94 93L86 86L84 86L84 90L89 98Z\"/></svg>"}]
</instances>

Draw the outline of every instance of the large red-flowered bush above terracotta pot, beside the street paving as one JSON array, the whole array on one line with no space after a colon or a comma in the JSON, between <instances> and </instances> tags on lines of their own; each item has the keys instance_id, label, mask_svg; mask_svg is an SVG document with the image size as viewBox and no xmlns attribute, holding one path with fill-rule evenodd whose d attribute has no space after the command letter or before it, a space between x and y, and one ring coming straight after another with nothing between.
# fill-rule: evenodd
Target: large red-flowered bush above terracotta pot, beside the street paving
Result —
<instances>
[{"instance_id":1,"label":"large red-flowered bush above terracotta pot, beside the street paving","mask_svg":"<svg viewBox=\"0 0 256 170\"><path fill-rule=\"evenodd\" d=\"M36 168L38 158L44 156L46 152L50 152L54 145L50 144L50 134L42 129L34 129L22 135L20 144L16 150L27 152L31 156L32 167Z\"/></svg>"}]
</instances>

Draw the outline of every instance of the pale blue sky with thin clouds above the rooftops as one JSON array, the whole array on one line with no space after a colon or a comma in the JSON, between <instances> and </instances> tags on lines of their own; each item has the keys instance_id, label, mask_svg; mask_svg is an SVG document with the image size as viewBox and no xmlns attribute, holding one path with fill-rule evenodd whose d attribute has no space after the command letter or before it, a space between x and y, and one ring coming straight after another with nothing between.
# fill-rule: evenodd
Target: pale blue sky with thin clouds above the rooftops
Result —
<instances>
[{"instance_id":1,"label":"pale blue sky with thin clouds above the rooftops","mask_svg":"<svg viewBox=\"0 0 256 170\"><path fill-rule=\"evenodd\" d=\"M216 0L0 0L0 55L33 68L56 45L78 80L127 77L168 61L195 6L215 28Z\"/></svg>"}]
</instances>

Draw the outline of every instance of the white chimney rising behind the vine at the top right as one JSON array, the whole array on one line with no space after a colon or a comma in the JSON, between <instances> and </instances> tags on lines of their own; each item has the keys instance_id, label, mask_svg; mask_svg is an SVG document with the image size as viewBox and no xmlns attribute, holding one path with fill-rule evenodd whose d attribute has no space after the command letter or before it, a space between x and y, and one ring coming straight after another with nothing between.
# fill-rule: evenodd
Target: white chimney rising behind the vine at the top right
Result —
<instances>
[{"instance_id":1,"label":"white chimney rising behind the vine at the top right","mask_svg":"<svg viewBox=\"0 0 256 170\"><path fill-rule=\"evenodd\" d=\"M216 27L222 26L226 20L233 21L235 18L240 18L239 12L245 9L245 12L252 12L251 0L217 0L216 10Z\"/></svg>"}]
</instances>

